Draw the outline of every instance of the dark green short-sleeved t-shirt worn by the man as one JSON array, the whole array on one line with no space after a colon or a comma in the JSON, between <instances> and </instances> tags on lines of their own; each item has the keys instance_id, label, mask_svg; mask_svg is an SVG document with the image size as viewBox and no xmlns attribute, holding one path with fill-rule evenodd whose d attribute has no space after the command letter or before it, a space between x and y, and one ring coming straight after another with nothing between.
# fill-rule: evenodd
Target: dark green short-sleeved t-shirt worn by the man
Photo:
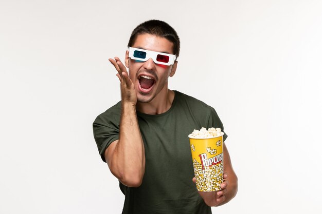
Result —
<instances>
[{"instance_id":1,"label":"dark green short-sleeved t-shirt worn by the man","mask_svg":"<svg viewBox=\"0 0 322 214\"><path fill-rule=\"evenodd\" d=\"M146 168L141 186L133 188L120 183L125 195L123 214L211 213L192 182L194 173L188 134L202 127L223 130L223 124L212 107L181 92L174 93L167 112L156 115L137 112ZM120 110L119 102L93 123L103 161L105 149L119 139ZM224 140L226 138L225 134Z\"/></svg>"}]
</instances>

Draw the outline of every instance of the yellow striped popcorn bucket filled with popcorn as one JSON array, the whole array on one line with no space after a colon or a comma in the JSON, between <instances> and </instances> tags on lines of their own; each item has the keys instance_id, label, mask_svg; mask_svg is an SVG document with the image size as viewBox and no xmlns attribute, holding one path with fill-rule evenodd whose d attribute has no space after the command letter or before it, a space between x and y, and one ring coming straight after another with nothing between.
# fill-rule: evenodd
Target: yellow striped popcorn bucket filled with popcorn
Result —
<instances>
[{"instance_id":1,"label":"yellow striped popcorn bucket filled with popcorn","mask_svg":"<svg viewBox=\"0 0 322 214\"><path fill-rule=\"evenodd\" d=\"M198 191L218 191L223 182L223 135L220 128L201 128L188 135Z\"/></svg>"}]
</instances>

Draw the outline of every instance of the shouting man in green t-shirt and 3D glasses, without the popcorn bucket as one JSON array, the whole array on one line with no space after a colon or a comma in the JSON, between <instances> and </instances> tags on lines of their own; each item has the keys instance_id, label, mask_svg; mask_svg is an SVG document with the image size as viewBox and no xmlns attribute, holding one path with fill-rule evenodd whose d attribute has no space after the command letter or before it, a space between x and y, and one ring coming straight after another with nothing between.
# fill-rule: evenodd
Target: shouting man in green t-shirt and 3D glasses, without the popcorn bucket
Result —
<instances>
[{"instance_id":1,"label":"shouting man in green t-shirt and 3D glasses, without the popcorn bucket","mask_svg":"<svg viewBox=\"0 0 322 214\"><path fill-rule=\"evenodd\" d=\"M172 27L157 20L142 23L128 47L125 66L118 57L109 60L120 80L121 101L93 124L102 160L125 195L122 213L211 213L210 206L235 197L237 177L224 146L222 190L198 192L188 134L223 125L212 107L168 89L180 51Z\"/></svg>"}]
</instances>

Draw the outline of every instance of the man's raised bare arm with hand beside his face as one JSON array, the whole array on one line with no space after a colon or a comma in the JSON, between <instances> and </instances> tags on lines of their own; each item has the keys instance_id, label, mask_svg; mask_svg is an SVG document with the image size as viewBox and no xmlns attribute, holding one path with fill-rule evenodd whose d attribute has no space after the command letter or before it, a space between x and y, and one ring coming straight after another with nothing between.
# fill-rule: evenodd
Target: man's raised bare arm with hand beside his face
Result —
<instances>
[{"instance_id":1,"label":"man's raised bare arm with hand beside his face","mask_svg":"<svg viewBox=\"0 0 322 214\"><path fill-rule=\"evenodd\" d=\"M105 150L111 172L124 185L138 187L145 172L145 150L136 116L137 96L125 66L118 57L109 59L118 73L121 85L121 119L119 140Z\"/></svg>"}]
</instances>

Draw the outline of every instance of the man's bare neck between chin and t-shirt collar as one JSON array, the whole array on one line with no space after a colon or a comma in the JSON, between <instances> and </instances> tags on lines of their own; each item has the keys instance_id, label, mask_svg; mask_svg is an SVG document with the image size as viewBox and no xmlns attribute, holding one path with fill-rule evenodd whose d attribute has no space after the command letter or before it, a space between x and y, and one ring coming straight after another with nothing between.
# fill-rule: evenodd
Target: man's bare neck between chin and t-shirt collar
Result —
<instances>
[{"instance_id":1,"label":"man's bare neck between chin and t-shirt collar","mask_svg":"<svg viewBox=\"0 0 322 214\"><path fill-rule=\"evenodd\" d=\"M164 93L159 93L157 96L157 99L153 99L149 103L138 102L136 110L145 114L162 114L168 111L172 106L174 91L167 89Z\"/></svg>"}]
</instances>

